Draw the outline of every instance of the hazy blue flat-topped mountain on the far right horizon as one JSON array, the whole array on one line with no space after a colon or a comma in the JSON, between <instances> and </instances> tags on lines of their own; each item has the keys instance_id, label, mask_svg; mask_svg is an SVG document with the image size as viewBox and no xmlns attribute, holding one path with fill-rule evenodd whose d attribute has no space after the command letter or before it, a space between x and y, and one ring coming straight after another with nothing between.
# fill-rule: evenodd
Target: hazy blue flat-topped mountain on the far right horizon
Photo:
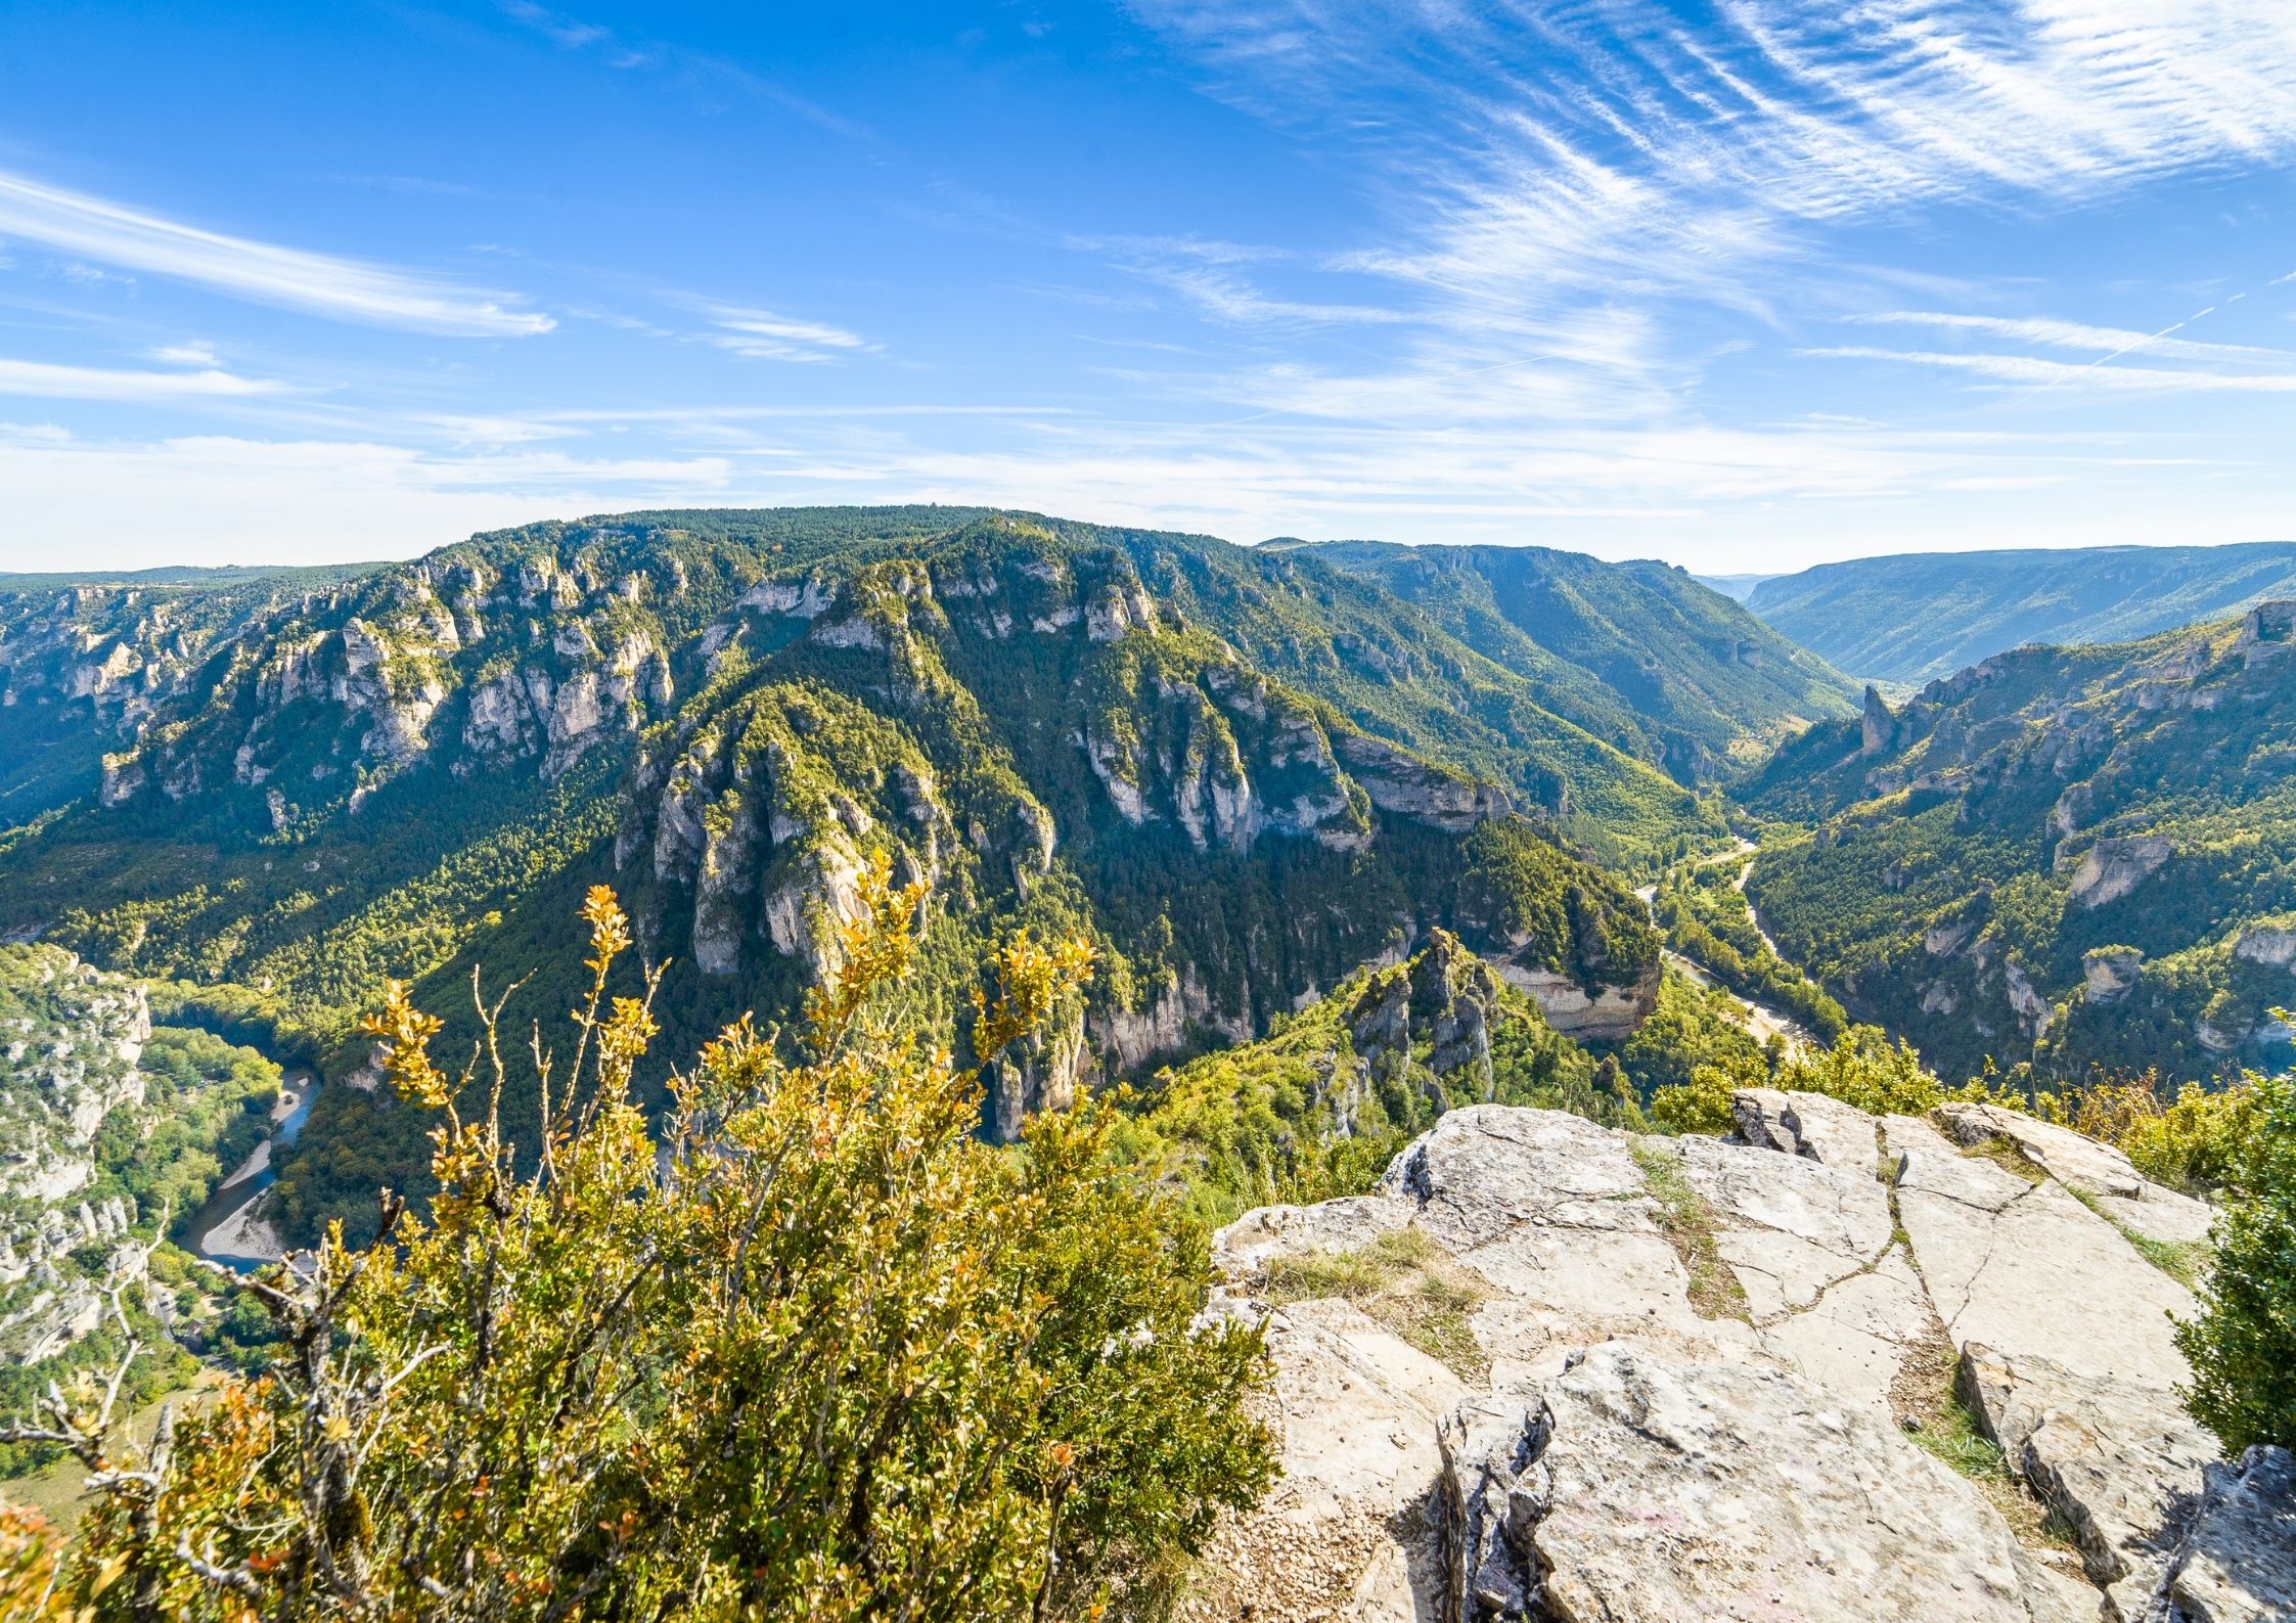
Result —
<instances>
[{"instance_id":1,"label":"hazy blue flat-topped mountain on the far right horizon","mask_svg":"<svg viewBox=\"0 0 2296 1623\"><path fill-rule=\"evenodd\" d=\"M2296 597L2296 542L1853 558L1763 581L1747 608L1874 682L1917 686L2027 643L2126 643Z\"/></svg>"}]
</instances>

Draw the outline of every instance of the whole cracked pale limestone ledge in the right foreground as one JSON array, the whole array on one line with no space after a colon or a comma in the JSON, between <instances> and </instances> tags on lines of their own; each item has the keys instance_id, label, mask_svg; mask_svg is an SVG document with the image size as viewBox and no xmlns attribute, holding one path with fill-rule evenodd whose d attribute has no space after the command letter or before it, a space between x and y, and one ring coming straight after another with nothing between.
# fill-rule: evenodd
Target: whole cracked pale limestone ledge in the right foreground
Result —
<instances>
[{"instance_id":1,"label":"whole cracked pale limestone ledge in the right foreground","mask_svg":"<svg viewBox=\"0 0 2296 1623\"><path fill-rule=\"evenodd\" d=\"M1178 1616L2296 1618L2296 1462L2183 1414L2195 1304L2131 1244L2200 1242L2204 1205L2007 1111L1750 1088L1736 1123L1451 1111L1373 1194L1224 1228L1212 1311L1267 1325L1283 1478ZM1270 1283L1364 1251L1440 1256L1474 1357ZM2020 1481L1908 1432L1949 1387Z\"/></svg>"}]
</instances>

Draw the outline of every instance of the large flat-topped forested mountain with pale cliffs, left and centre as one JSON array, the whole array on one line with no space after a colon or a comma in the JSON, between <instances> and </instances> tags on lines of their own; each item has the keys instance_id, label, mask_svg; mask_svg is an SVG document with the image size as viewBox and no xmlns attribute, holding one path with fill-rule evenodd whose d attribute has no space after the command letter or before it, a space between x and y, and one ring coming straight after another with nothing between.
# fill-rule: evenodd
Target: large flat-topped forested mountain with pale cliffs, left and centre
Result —
<instances>
[{"instance_id":1,"label":"large flat-topped forested mountain with pale cliffs, left and centre","mask_svg":"<svg viewBox=\"0 0 2296 1623\"><path fill-rule=\"evenodd\" d=\"M1435 925L1623 1028L1655 939L1589 859L1720 833L1373 581L1013 514L551 523L319 581L44 585L0 634L39 808L0 930L207 985L351 1081L282 1162L294 1233L422 1164L351 1040L381 983L457 1019L473 966L521 966L507 1017L549 1017L592 882L673 960L668 1051L790 1012L872 861L930 888L944 1012L1003 930L1084 932L1088 1005L992 1077L1010 1129Z\"/></svg>"}]
</instances>

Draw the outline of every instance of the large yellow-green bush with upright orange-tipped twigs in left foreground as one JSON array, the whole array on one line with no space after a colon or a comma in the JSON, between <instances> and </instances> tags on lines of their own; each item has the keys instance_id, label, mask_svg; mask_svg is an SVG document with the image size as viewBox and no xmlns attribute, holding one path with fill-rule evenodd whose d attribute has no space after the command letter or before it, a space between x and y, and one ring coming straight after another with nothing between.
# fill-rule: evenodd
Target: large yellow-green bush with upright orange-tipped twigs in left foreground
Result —
<instances>
[{"instance_id":1,"label":"large yellow-green bush with upright orange-tipped twigs in left foreground","mask_svg":"<svg viewBox=\"0 0 2296 1623\"><path fill-rule=\"evenodd\" d=\"M80 1453L99 1501L69 1550L0 1524L0 1612L1081 1616L1192 1550L1270 1478L1258 1334L1194 1325L1203 1240L1111 1164L1097 1106L987 1148L974 1074L875 1017L918 904L879 868L801 1040L730 1028L661 1152L629 1100L650 994L604 994L611 893L569 1086L535 1042L537 1155L501 1132L494 1022L457 1084L393 987L374 1035L443 1111L427 1221L388 1201L372 1247L338 1230L308 1279L255 1283L273 1373L147 1449L85 1384L14 1428ZM1017 939L978 1051L1088 969Z\"/></svg>"}]
</instances>

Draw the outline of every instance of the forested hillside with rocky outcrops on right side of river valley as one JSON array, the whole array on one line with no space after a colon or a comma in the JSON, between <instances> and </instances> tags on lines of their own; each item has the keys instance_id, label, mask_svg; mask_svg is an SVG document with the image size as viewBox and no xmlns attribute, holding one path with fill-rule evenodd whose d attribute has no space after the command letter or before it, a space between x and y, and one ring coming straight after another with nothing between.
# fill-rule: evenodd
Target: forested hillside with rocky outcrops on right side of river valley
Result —
<instances>
[{"instance_id":1,"label":"forested hillside with rocky outcrops on right side of river valley","mask_svg":"<svg viewBox=\"0 0 2296 1623\"><path fill-rule=\"evenodd\" d=\"M1947 1074L2204 1077L2291 1033L2296 604L2025 647L1779 751L1747 893L1789 957Z\"/></svg>"}]
</instances>

